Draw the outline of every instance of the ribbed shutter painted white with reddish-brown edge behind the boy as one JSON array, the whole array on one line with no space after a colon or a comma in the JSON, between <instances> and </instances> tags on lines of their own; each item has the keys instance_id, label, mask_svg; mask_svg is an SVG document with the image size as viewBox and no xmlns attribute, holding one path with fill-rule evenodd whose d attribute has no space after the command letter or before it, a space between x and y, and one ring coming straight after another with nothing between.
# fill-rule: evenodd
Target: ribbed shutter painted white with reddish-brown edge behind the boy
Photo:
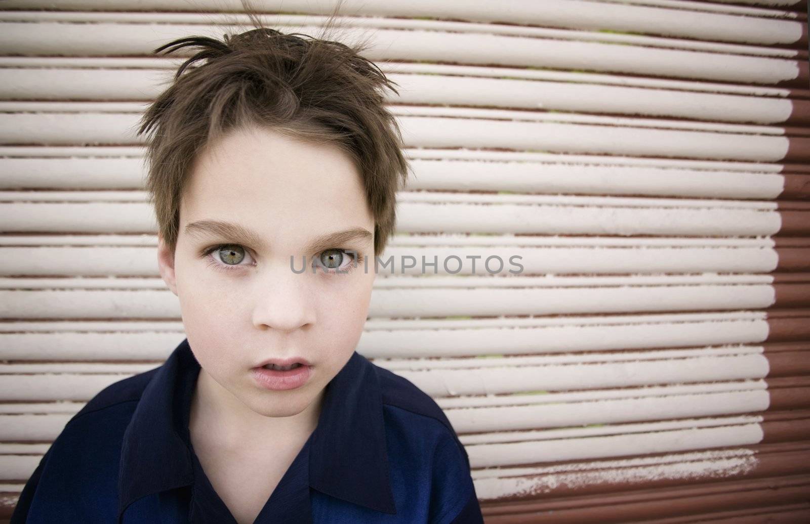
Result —
<instances>
[{"instance_id":1,"label":"ribbed shutter painted white with reddish-brown edge behind the boy","mask_svg":"<svg viewBox=\"0 0 810 524\"><path fill-rule=\"evenodd\" d=\"M313 3L254 2L290 32ZM132 131L181 62L151 49L240 4L2 8L8 518L70 416L185 337ZM487 522L810 521L807 2L344 12L403 87L416 179L383 258L522 256L380 275L357 348L445 410Z\"/></svg>"}]
</instances>

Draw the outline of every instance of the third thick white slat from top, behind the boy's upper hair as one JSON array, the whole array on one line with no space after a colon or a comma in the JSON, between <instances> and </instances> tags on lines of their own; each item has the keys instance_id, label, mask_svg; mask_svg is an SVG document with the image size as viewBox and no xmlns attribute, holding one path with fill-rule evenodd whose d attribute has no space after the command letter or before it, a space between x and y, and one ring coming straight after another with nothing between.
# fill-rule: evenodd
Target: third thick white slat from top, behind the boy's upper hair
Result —
<instances>
[{"instance_id":1,"label":"third thick white slat from top, behind the boy's upper hair","mask_svg":"<svg viewBox=\"0 0 810 524\"><path fill-rule=\"evenodd\" d=\"M6 69L2 72L5 82L0 86L0 98L148 101L160 93L171 74L171 70ZM788 99L744 95L437 74L388 77L402 89L398 88L399 95L386 92L386 97L399 104L480 105L759 124L782 122L790 116L792 108ZM19 104L3 105L14 108ZM23 110L24 105L19 107ZM524 115L535 119L540 116ZM679 124L675 120L663 123Z\"/></svg>"}]
</instances>

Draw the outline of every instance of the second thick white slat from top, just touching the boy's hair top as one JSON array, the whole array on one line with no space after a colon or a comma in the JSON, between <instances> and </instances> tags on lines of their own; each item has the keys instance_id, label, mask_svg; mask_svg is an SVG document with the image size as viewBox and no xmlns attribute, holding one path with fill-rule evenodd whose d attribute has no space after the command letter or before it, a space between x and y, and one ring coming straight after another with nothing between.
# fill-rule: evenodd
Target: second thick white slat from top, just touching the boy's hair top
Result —
<instances>
[{"instance_id":1,"label":"second thick white slat from top, just touching the boy's hair top","mask_svg":"<svg viewBox=\"0 0 810 524\"><path fill-rule=\"evenodd\" d=\"M187 35L221 38L222 28L202 24L37 23L36 38L29 23L4 22L0 46L9 54L68 56L148 55L158 45ZM243 26L244 27L244 26ZM289 32L313 34L318 27L291 25ZM563 33L568 33L563 31ZM590 33L588 33L590 34ZM355 44L369 29L347 27L342 41ZM667 78L705 79L765 85L786 82L804 87L807 70L785 58L660 49L637 45L526 38L491 34L424 30L375 29L364 53L374 61L442 61L471 65L502 64L552 69L610 71Z\"/></svg>"}]
</instances>

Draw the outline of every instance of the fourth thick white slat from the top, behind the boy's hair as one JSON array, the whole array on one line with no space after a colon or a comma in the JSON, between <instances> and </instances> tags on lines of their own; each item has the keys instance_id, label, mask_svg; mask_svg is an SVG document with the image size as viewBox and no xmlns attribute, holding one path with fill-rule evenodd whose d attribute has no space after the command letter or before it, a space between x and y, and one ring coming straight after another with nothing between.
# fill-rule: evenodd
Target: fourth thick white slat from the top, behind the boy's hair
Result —
<instances>
[{"instance_id":1,"label":"fourth thick white slat from the top, behind the boy's hair","mask_svg":"<svg viewBox=\"0 0 810 524\"><path fill-rule=\"evenodd\" d=\"M133 113L11 113L0 120L0 143L99 145L142 142ZM678 129L610 128L445 116L399 116L403 143L423 147L498 147L569 153L727 158L775 162L787 154L782 136Z\"/></svg>"}]
</instances>

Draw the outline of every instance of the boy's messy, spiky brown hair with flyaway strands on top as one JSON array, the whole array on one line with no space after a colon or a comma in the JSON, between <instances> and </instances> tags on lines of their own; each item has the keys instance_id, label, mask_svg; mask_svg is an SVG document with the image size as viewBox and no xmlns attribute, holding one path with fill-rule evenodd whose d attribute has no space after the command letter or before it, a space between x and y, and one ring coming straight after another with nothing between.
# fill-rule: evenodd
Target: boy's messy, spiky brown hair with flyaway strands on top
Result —
<instances>
[{"instance_id":1,"label":"boy's messy, spiky brown hair with flyaway strands on top","mask_svg":"<svg viewBox=\"0 0 810 524\"><path fill-rule=\"evenodd\" d=\"M399 94L397 84L360 56L368 40L352 46L326 40L338 27L340 4L316 38L264 27L242 3L254 26L249 31L223 40L187 36L153 51L198 48L139 121L137 134L147 134L145 186L160 236L174 252L183 188L203 148L258 126L335 146L352 158L374 218L374 252L381 255L396 222L396 192L410 169L397 120L383 104L386 88Z\"/></svg>"}]
</instances>

